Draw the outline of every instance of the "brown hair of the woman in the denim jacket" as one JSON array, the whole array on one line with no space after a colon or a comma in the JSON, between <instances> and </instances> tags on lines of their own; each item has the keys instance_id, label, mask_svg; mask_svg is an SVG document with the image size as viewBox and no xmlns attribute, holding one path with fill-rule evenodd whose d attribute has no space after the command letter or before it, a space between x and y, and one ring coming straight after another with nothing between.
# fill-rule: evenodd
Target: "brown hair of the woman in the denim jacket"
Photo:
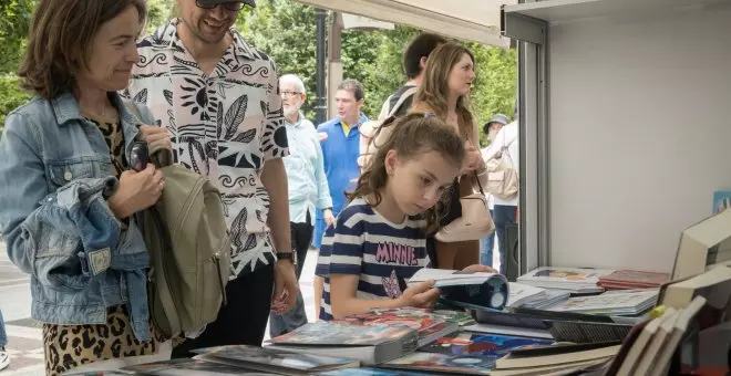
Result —
<instances>
[{"instance_id":1,"label":"brown hair of the woman in the denim jacket","mask_svg":"<svg viewBox=\"0 0 731 376\"><path fill-rule=\"evenodd\" d=\"M128 7L135 8L144 23L145 0L39 1L18 71L22 87L49 100L72 90L99 29Z\"/></svg>"}]
</instances>

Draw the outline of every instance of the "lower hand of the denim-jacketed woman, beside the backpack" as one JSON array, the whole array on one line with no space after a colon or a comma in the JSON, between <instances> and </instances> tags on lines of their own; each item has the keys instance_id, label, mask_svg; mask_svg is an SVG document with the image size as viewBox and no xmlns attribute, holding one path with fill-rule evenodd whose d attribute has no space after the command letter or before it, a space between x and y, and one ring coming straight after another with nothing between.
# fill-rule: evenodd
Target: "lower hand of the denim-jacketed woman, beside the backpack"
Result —
<instances>
[{"instance_id":1,"label":"lower hand of the denim-jacketed woman, beside the backpack","mask_svg":"<svg viewBox=\"0 0 731 376\"><path fill-rule=\"evenodd\" d=\"M156 169L155 165L147 164L147 167L140 173L134 170L122 173L120 185L107 202L119 219L125 219L155 205L163 194L163 188L165 188L163 171Z\"/></svg>"}]
</instances>

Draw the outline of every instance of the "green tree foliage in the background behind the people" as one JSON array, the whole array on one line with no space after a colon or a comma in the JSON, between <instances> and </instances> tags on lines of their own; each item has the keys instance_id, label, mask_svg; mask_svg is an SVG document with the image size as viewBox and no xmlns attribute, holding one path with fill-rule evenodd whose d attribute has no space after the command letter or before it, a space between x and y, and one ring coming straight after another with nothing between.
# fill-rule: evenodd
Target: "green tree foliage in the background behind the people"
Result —
<instances>
[{"instance_id":1,"label":"green tree foliage in the background behind the people","mask_svg":"<svg viewBox=\"0 0 731 376\"><path fill-rule=\"evenodd\" d=\"M24 39L35 0L0 0L0 119L23 103L28 95L17 88L14 72L24 50ZM154 31L175 13L174 0L148 0L146 32ZM332 21L329 13L328 25ZM269 54L279 74L291 73L302 79L309 94L302 108L315 118L316 15L315 9L292 0L257 0L257 8L244 11L237 29L262 52ZM406 43L419 33L408 27L394 30L342 33L343 79L363 83L363 112L375 117L383 101L405 82L401 59ZM478 44L467 44L476 59L477 80L472 103L480 124L502 113L512 117L516 93L517 54Z\"/></svg>"}]
</instances>

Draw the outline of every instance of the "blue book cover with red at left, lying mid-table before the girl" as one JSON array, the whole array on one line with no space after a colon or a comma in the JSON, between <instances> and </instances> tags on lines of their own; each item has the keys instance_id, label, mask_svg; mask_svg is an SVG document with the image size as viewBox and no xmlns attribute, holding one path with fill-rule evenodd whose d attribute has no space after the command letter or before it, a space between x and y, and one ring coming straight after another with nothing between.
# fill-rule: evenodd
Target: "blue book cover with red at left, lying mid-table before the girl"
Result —
<instances>
[{"instance_id":1,"label":"blue book cover with red at left, lying mid-table before the girl","mask_svg":"<svg viewBox=\"0 0 731 376\"><path fill-rule=\"evenodd\" d=\"M476 355L500 358L518 348L552 345L554 341L500 334L457 333L441 337L420 348L422 352L445 355Z\"/></svg>"}]
</instances>

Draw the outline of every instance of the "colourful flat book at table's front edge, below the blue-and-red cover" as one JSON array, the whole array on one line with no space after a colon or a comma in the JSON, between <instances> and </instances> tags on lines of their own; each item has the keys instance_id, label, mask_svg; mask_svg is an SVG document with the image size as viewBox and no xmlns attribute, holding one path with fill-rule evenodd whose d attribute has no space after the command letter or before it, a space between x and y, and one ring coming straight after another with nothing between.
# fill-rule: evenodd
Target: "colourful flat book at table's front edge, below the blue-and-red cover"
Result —
<instances>
[{"instance_id":1,"label":"colourful flat book at table's front edge, below the blue-and-red cover","mask_svg":"<svg viewBox=\"0 0 731 376\"><path fill-rule=\"evenodd\" d=\"M415 352L384 363L381 367L405 368L457 375L490 375L495 367L496 356L445 355L440 353Z\"/></svg>"}]
</instances>

